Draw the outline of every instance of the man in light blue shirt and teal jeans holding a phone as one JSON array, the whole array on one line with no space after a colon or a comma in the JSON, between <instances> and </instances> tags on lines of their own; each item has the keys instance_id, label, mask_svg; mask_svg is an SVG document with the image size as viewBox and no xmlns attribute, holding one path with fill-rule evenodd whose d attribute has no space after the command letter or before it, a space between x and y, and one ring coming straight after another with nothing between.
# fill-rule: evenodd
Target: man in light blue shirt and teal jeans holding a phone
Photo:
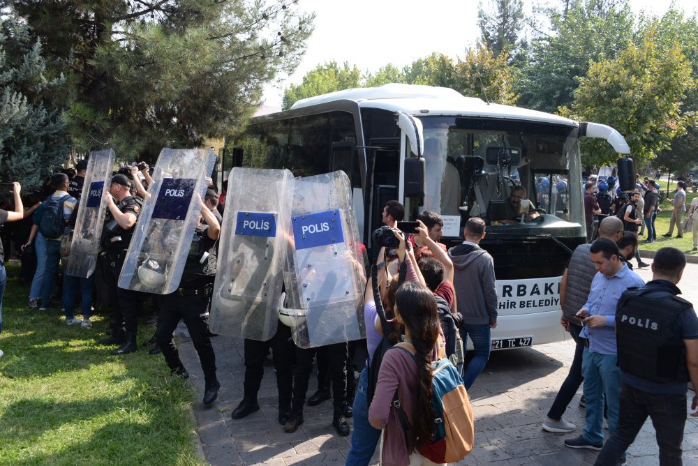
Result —
<instances>
[{"instance_id":1,"label":"man in light blue shirt and teal jeans holding a phone","mask_svg":"<svg viewBox=\"0 0 698 466\"><path fill-rule=\"evenodd\" d=\"M582 355L581 374L584 376L586 397L586 426L579 437L565 440L565 445L577 449L602 449L604 442L604 393L608 405L609 432L618 423L621 370L616 366L616 304L630 287L641 287L644 281L628 269L614 241L597 239L589 249L596 276L591 282L589 297L577 317L583 327L582 338L588 347Z\"/></svg>"}]
</instances>

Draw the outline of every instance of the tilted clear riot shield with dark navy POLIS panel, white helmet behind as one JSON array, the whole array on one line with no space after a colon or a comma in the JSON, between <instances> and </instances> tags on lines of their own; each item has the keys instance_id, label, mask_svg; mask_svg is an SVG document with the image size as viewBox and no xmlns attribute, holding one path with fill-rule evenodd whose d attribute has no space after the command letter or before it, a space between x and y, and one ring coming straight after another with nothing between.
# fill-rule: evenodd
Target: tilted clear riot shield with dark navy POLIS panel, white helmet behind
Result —
<instances>
[{"instance_id":1,"label":"tilted clear riot shield with dark navy POLIS panel, white helmet behind","mask_svg":"<svg viewBox=\"0 0 698 466\"><path fill-rule=\"evenodd\" d=\"M119 287L154 294L177 290L201 212L195 196L203 199L215 161L211 149L161 151Z\"/></svg>"}]
</instances>

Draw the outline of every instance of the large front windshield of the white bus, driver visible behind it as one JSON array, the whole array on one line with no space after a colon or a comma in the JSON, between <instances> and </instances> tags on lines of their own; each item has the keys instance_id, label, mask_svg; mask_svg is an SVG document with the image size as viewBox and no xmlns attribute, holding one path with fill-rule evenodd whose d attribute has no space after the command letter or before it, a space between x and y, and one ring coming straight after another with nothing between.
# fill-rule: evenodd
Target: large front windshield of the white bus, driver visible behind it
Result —
<instances>
[{"instance_id":1,"label":"large front windshield of the white bus, driver visible behind it","mask_svg":"<svg viewBox=\"0 0 698 466\"><path fill-rule=\"evenodd\" d=\"M537 209L582 223L577 128L467 117L420 119L426 186L423 205L408 209L412 218L424 210L442 216L490 217L493 203L507 202L512 188L521 186L528 200L521 202L523 210ZM570 189L573 186L579 189Z\"/></svg>"}]
</instances>

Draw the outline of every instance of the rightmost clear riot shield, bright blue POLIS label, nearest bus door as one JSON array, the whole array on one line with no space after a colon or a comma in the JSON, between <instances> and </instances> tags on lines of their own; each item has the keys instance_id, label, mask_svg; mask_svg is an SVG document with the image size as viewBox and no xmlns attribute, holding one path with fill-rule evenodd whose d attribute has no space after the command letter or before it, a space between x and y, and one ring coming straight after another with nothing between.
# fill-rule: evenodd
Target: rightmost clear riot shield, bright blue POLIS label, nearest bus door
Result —
<instances>
[{"instance_id":1,"label":"rightmost clear riot shield, bright blue POLIS label, nearest bus door","mask_svg":"<svg viewBox=\"0 0 698 466\"><path fill-rule=\"evenodd\" d=\"M295 344L309 348L366 336L362 291L364 260L344 172L296 179L293 183L285 266L286 306L282 322L292 326Z\"/></svg>"}]
</instances>

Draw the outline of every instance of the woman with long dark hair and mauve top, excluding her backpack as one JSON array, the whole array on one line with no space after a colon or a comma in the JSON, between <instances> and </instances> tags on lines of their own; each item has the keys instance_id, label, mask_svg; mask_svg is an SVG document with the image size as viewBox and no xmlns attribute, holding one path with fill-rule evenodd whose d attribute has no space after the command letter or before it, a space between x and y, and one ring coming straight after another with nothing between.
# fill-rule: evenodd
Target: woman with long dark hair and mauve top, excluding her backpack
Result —
<instances>
[{"instance_id":1,"label":"woman with long dark hair and mauve top, excluding her backpack","mask_svg":"<svg viewBox=\"0 0 698 466\"><path fill-rule=\"evenodd\" d=\"M369 422L377 429L384 429L383 465L434 465L418 449L431 439L434 429L431 362L438 359L440 328L436 299L424 285L404 283L395 294L393 311L396 320L404 326L405 341L383 356L376 394L369 408ZM408 433L392 405L395 391L410 422Z\"/></svg>"}]
</instances>

